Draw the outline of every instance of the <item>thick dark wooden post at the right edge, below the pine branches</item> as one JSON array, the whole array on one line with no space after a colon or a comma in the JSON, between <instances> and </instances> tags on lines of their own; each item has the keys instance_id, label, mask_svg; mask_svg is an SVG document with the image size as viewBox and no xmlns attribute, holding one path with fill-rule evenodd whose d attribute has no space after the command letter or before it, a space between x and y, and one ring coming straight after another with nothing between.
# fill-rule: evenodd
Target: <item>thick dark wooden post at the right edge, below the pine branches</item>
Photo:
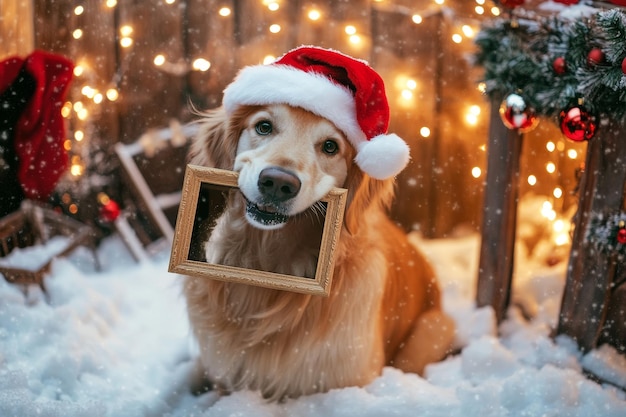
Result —
<instances>
[{"instance_id":1,"label":"thick dark wooden post at the right edge, below the pine branches","mask_svg":"<svg viewBox=\"0 0 626 417\"><path fill-rule=\"evenodd\" d=\"M616 274L610 254L585 239L593 213L619 210L626 181L626 119L601 126L589 141L580 203L567 269L557 332L574 338L587 352L596 346Z\"/></svg>"}]
</instances>

